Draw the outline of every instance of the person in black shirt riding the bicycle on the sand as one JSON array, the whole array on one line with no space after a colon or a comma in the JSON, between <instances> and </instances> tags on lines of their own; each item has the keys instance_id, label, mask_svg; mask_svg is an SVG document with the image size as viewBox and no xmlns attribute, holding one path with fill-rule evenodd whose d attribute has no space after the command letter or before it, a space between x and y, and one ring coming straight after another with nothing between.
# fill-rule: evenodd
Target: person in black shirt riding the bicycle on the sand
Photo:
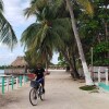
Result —
<instances>
[{"instance_id":1,"label":"person in black shirt riding the bicycle on the sand","mask_svg":"<svg viewBox=\"0 0 109 109\"><path fill-rule=\"evenodd\" d=\"M43 92L45 93L45 69L41 66L41 63L38 63L36 69L34 70L34 73L36 74L36 81L41 80L39 83L43 85Z\"/></svg>"}]
</instances>

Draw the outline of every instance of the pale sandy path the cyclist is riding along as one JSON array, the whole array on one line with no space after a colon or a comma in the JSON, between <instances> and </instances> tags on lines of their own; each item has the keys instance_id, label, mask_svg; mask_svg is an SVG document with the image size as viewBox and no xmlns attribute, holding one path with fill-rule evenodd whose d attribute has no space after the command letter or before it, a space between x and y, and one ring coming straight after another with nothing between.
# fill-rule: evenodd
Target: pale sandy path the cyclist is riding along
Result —
<instances>
[{"instance_id":1,"label":"pale sandy path the cyclist is riding along","mask_svg":"<svg viewBox=\"0 0 109 109\"><path fill-rule=\"evenodd\" d=\"M51 71L46 77L46 98L32 106L29 83L22 88L0 95L0 109L109 109L109 93L78 89L84 83L72 81L64 71Z\"/></svg>"}]
</instances>

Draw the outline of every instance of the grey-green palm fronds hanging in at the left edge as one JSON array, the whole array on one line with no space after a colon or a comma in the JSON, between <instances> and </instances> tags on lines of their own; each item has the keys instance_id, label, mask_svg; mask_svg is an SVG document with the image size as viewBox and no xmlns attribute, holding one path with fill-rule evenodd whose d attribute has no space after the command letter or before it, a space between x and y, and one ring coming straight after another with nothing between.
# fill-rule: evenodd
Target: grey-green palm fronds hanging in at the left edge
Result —
<instances>
[{"instance_id":1,"label":"grey-green palm fronds hanging in at the left edge","mask_svg":"<svg viewBox=\"0 0 109 109\"><path fill-rule=\"evenodd\" d=\"M3 16L3 2L0 0L0 43L8 45L11 49L17 43L16 36L10 23Z\"/></svg>"}]
</instances>

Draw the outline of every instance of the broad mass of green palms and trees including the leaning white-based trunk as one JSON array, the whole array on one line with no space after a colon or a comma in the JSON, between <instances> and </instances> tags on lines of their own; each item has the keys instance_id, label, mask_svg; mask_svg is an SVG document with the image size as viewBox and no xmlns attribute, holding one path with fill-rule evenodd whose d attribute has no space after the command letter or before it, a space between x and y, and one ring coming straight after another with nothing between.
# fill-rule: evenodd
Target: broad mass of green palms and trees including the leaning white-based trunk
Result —
<instances>
[{"instance_id":1,"label":"broad mass of green palms and trees including the leaning white-based trunk","mask_svg":"<svg viewBox=\"0 0 109 109\"><path fill-rule=\"evenodd\" d=\"M59 64L68 64L74 78L80 78L81 64L86 85L93 85L87 68L90 48L94 65L109 65L108 4L107 0L32 0L25 15L35 15L36 22L22 34L25 59L48 65L59 52Z\"/></svg>"}]
</instances>

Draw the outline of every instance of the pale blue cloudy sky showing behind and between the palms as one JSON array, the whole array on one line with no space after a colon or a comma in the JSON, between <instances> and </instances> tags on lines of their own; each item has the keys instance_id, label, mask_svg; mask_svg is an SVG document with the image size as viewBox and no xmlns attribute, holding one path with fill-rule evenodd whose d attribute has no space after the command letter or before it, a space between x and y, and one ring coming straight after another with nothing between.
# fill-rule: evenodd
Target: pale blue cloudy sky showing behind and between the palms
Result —
<instances>
[{"instance_id":1,"label":"pale blue cloudy sky showing behind and between the palms","mask_svg":"<svg viewBox=\"0 0 109 109\"><path fill-rule=\"evenodd\" d=\"M4 3L4 16L12 25L19 44L11 51L7 46L0 44L0 65L8 65L17 56L24 56L24 48L21 46L20 39L23 31L35 22L35 17L26 19L24 16L24 9L29 5L31 0L3 0ZM58 55L53 55L52 62L58 63Z\"/></svg>"}]
</instances>

